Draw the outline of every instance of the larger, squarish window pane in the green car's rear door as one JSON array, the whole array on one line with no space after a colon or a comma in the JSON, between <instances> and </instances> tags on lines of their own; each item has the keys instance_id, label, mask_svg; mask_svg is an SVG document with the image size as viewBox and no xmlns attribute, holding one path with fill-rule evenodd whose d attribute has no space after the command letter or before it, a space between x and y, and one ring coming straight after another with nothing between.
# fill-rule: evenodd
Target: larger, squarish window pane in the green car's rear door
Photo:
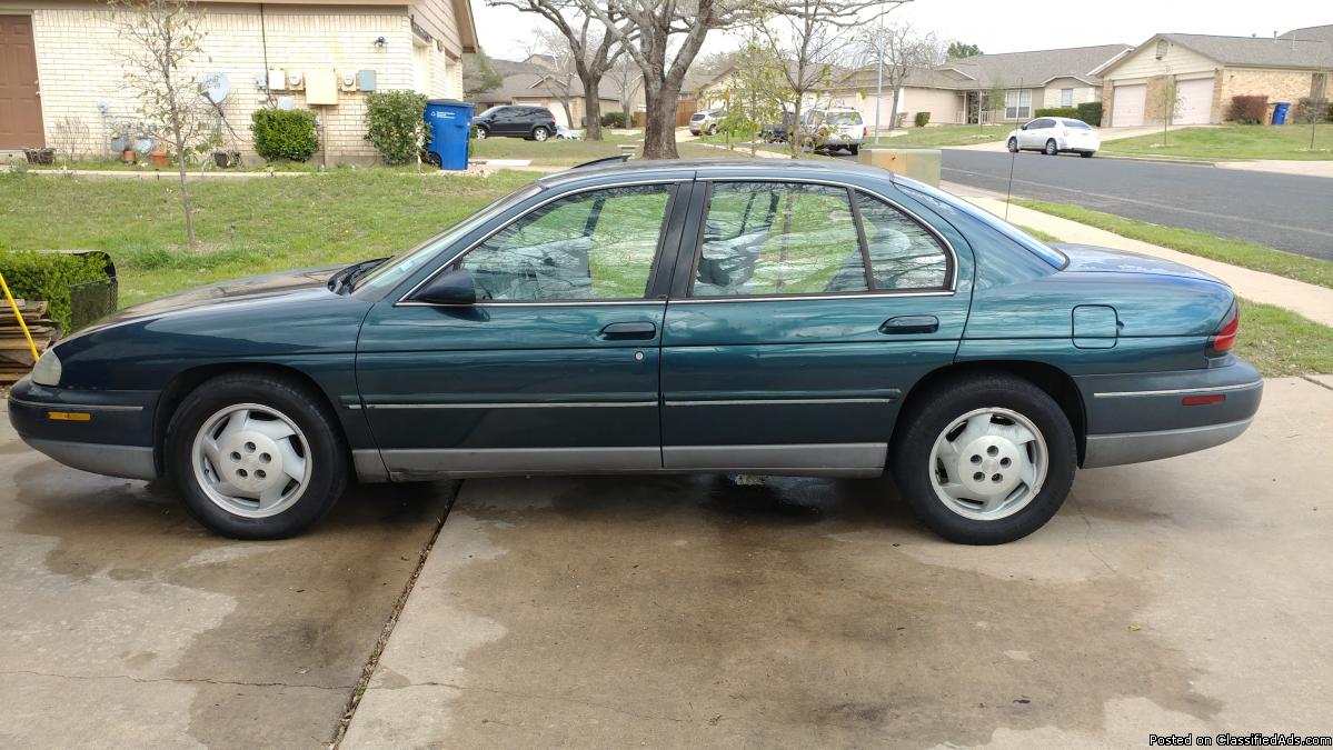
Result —
<instances>
[{"instance_id":1,"label":"larger, squarish window pane in the green car's rear door","mask_svg":"<svg viewBox=\"0 0 1333 750\"><path fill-rule=\"evenodd\" d=\"M714 183L696 297L866 292L848 190L801 183Z\"/></svg>"}]
</instances>

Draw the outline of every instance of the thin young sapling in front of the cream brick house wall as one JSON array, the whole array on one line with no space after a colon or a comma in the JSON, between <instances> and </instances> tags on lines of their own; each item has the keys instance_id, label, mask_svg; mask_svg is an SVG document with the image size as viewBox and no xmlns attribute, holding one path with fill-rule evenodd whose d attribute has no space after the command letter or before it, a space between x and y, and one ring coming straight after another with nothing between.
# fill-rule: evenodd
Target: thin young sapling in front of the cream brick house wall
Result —
<instances>
[{"instance_id":1,"label":"thin young sapling in front of the cream brick house wall","mask_svg":"<svg viewBox=\"0 0 1333 750\"><path fill-rule=\"evenodd\" d=\"M144 128L176 157L185 237L193 248L195 212L185 167L211 135L208 107L191 72L205 36L203 17L188 0L112 0L112 7L120 36L128 41L123 52L125 83L139 99Z\"/></svg>"}]
</instances>

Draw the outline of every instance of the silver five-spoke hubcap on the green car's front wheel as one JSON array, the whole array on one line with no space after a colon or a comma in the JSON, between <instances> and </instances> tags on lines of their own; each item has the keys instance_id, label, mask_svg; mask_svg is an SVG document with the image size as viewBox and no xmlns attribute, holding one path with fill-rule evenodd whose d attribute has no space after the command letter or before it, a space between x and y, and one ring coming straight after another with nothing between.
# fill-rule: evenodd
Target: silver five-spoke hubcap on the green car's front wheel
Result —
<instances>
[{"instance_id":1,"label":"silver five-spoke hubcap on the green car's front wheel","mask_svg":"<svg viewBox=\"0 0 1333 750\"><path fill-rule=\"evenodd\" d=\"M296 504L311 484L311 448L296 422L261 404L237 404L204 421L191 456L215 505L264 518Z\"/></svg>"}]
</instances>

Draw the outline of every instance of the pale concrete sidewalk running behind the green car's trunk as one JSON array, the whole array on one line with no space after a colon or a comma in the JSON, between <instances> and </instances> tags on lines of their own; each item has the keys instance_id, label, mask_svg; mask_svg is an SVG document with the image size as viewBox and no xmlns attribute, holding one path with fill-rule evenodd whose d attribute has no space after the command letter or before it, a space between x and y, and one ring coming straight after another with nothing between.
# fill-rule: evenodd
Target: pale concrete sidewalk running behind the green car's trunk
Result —
<instances>
[{"instance_id":1,"label":"pale concrete sidewalk running behind the green car's trunk","mask_svg":"<svg viewBox=\"0 0 1333 750\"><path fill-rule=\"evenodd\" d=\"M970 192L974 193L976 190ZM1001 198L969 196L965 193L960 193L960 196L1001 218L1005 216L1005 202ZM1333 326L1333 289L1130 240L1104 229L1096 229L1077 221L1060 218L1058 216L1050 216L1049 213L1041 213L1040 210L1018 205L1009 206L1008 221L1040 229L1058 237L1062 242L1130 250L1197 268L1221 278L1246 300L1286 308L1316 322Z\"/></svg>"}]
</instances>

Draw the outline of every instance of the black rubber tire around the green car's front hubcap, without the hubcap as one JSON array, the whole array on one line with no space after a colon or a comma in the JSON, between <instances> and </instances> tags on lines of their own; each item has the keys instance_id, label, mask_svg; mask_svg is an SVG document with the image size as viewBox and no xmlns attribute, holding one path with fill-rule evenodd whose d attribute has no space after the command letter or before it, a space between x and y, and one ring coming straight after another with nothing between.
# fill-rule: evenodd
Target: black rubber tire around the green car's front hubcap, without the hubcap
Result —
<instances>
[{"instance_id":1,"label":"black rubber tire around the green car's front hubcap, without the hubcap","mask_svg":"<svg viewBox=\"0 0 1333 750\"><path fill-rule=\"evenodd\" d=\"M312 461L309 480L295 504L281 513L251 518L231 513L209 498L195 472L195 438L219 410L259 404L288 417L304 434ZM337 417L319 393L296 381L267 373L215 377L192 390L167 428L163 457L167 477L185 509L209 530L236 540L280 540L300 534L323 518L341 497L349 476L347 441Z\"/></svg>"}]
</instances>

